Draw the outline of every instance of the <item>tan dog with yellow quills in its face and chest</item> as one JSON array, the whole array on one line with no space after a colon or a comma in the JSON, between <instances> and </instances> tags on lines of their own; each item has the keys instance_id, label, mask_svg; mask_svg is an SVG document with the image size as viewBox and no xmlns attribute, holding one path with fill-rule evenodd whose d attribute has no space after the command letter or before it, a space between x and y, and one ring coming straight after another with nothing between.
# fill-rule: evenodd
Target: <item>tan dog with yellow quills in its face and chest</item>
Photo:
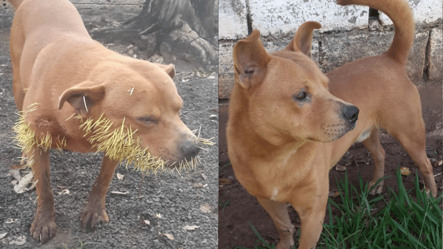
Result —
<instances>
[{"instance_id":1,"label":"tan dog with yellow quills in its face and chest","mask_svg":"<svg viewBox=\"0 0 443 249\"><path fill-rule=\"evenodd\" d=\"M80 129L81 122L101 117L109 121L110 130L130 130L124 134L137 141L142 154L161 158L166 166L189 161L199 149L179 117L183 100L171 79L172 64L136 60L106 49L91 39L68 0L10 2L16 8L10 38L14 98L24 127L36 139L32 148L25 148L33 161L38 196L30 231L45 243L56 234L48 148L82 153L99 149L92 142L95 128ZM49 142L43 142L46 137ZM80 216L83 225L109 221L105 196L118 163L104 156Z\"/></svg>"}]
</instances>

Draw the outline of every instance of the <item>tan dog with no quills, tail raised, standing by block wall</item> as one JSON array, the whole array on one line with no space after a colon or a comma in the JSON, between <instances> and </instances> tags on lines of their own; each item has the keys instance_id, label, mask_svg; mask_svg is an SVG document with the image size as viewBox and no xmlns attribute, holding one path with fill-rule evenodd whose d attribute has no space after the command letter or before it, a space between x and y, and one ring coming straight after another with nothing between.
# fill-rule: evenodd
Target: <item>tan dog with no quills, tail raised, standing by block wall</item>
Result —
<instances>
[{"instance_id":1,"label":"tan dog with no quills, tail raised, standing by block wall","mask_svg":"<svg viewBox=\"0 0 443 249\"><path fill-rule=\"evenodd\" d=\"M286 203L301 219L298 249L319 239L328 199L328 172L355 142L372 153L370 187L380 193L384 150L379 130L392 134L411 156L434 197L437 186L426 156L426 133L417 88L405 64L414 20L405 0L338 0L385 13L394 23L389 49L349 62L326 75L311 60L317 22L303 23L284 50L268 54L253 31L233 49L235 83L226 129L228 155L238 181L272 218L278 249L294 246Z\"/></svg>"}]
</instances>

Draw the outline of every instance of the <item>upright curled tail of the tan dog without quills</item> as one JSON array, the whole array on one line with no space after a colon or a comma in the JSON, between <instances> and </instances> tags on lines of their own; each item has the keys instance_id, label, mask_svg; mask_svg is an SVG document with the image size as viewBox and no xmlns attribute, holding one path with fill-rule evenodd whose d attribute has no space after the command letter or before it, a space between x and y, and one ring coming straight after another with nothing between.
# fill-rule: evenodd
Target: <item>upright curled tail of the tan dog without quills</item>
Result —
<instances>
[{"instance_id":1,"label":"upright curled tail of the tan dog without quills","mask_svg":"<svg viewBox=\"0 0 443 249\"><path fill-rule=\"evenodd\" d=\"M385 13L394 23L395 34L391 46L384 54L406 64L415 32L414 18L406 0L337 0L337 3L365 5Z\"/></svg>"}]
</instances>

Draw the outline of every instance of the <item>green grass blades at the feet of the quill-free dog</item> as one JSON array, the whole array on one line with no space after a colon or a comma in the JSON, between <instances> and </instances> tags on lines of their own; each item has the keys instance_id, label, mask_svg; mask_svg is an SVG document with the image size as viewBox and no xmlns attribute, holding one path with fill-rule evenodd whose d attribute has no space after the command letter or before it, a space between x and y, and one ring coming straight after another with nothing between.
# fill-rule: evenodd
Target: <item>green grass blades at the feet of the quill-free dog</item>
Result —
<instances>
[{"instance_id":1,"label":"green grass blades at the feet of the quill-free dog","mask_svg":"<svg viewBox=\"0 0 443 249\"><path fill-rule=\"evenodd\" d=\"M433 198L420 190L415 174L414 188L407 191L399 171L396 172L398 192L388 187L388 193L369 197L371 189L359 176L359 187L352 186L345 174L337 181L341 202L328 201L329 222L323 231L317 249L441 249L442 196ZM411 196L414 191L414 197ZM341 213L332 216L331 206ZM258 240L254 249L274 249L250 223ZM299 234L297 229L296 234ZM294 241L298 241L295 236ZM239 249L246 249L237 247Z\"/></svg>"}]
</instances>

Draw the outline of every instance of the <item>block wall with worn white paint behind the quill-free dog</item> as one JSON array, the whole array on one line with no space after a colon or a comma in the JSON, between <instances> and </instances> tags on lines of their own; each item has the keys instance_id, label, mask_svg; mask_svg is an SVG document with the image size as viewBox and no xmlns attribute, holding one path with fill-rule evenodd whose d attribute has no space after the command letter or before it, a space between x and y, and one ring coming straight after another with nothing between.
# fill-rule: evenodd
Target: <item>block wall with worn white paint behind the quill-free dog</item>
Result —
<instances>
[{"instance_id":1,"label":"block wall with worn white paint behind the quill-free dog","mask_svg":"<svg viewBox=\"0 0 443 249\"><path fill-rule=\"evenodd\" d=\"M442 81L442 0L409 0L416 21L414 47L407 71L411 80ZM369 7L340 6L334 0L220 0L219 98L229 98L233 85L232 47L261 31L268 51L284 48L305 21L322 28L314 34L313 60L324 72L354 59L377 55L390 45L392 22L380 14L369 17ZM423 74L424 72L424 74Z\"/></svg>"}]
</instances>

